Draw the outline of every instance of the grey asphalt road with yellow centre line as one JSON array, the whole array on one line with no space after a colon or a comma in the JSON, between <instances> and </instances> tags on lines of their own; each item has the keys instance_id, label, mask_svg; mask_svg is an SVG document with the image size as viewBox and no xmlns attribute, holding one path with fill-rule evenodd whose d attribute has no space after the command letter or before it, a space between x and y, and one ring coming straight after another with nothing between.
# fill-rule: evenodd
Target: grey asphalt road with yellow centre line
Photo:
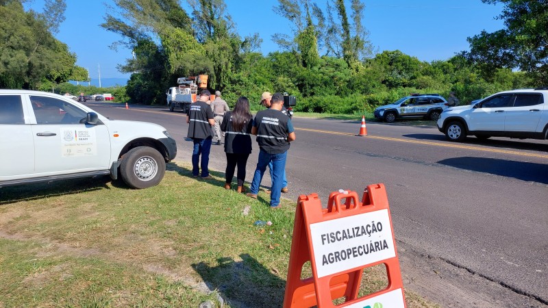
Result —
<instances>
[{"instance_id":1,"label":"grey asphalt road with yellow centre line","mask_svg":"<svg viewBox=\"0 0 548 308\"><path fill-rule=\"evenodd\" d=\"M110 118L163 125L177 140L176 159L190 162L181 112L90 107ZM284 196L317 192L325 204L340 188L361 194L366 185L384 183L406 287L453 307L548 305L548 141L469 137L453 143L436 127L414 122L367 123L368 136L360 138L358 118L292 122L297 140L288 153L290 193ZM258 153L253 147L248 181ZM224 171L223 146L212 147L210 168ZM444 277L436 268L453 269Z\"/></svg>"}]
</instances>

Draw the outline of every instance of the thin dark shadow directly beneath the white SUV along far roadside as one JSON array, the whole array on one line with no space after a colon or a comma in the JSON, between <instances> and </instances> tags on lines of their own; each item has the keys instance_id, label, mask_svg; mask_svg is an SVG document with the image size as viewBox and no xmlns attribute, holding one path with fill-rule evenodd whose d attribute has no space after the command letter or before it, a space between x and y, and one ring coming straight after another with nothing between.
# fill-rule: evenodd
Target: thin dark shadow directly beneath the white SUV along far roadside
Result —
<instances>
[{"instance_id":1,"label":"thin dark shadow directly beneath the white SUV along far roadside","mask_svg":"<svg viewBox=\"0 0 548 308\"><path fill-rule=\"evenodd\" d=\"M413 133L409 135L403 135L403 137L414 138L418 140L435 140L435 141L447 141L445 136L432 135L431 133ZM453 142L451 142L453 144ZM482 146L493 146L494 148L510 148L516 150L527 150L527 151L538 151L548 153L548 143L535 143L535 142L524 142L517 141L512 139L487 139L479 140L475 137L467 137L462 143L454 144L473 144L473 145L482 145Z\"/></svg>"}]
</instances>

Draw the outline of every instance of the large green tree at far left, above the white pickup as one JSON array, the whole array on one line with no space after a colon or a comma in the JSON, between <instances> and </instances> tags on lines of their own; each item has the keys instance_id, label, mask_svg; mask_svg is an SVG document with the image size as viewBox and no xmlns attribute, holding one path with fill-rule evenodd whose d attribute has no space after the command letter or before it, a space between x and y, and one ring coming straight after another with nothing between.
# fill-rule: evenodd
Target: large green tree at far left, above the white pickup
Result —
<instances>
[{"instance_id":1,"label":"large green tree at far left, above the white pickup","mask_svg":"<svg viewBox=\"0 0 548 308\"><path fill-rule=\"evenodd\" d=\"M56 10L51 16L47 12ZM47 1L46 13L25 12L21 1L0 6L0 87L38 89L42 83L69 80L76 55L55 39L64 1Z\"/></svg>"}]
</instances>

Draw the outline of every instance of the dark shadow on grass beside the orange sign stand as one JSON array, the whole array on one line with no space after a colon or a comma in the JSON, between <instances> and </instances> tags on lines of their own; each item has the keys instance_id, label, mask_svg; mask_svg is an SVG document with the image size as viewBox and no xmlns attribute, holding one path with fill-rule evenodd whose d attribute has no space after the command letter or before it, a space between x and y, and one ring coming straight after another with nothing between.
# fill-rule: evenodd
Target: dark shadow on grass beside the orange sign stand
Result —
<instances>
[{"instance_id":1,"label":"dark shadow on grass beside the orange sign stand","mask_svg":"<svg viewBox=\"0 0 548 308\"><path fill-rule=\"evenodd\" d=\"M192 264L210 290L219 290L230 307L282 307L286 281L248 254L242 261L217 259L216 266Z\"/></svg>"}]
</instances>

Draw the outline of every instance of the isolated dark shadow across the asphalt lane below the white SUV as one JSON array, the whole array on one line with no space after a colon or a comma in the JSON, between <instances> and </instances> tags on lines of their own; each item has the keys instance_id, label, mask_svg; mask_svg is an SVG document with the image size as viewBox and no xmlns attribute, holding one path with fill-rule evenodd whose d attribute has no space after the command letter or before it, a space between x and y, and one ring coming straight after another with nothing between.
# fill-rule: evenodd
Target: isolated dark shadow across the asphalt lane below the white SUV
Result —
<instances>
[{"instance_id":1,"label":"isolated dark shadow across the asphalt lane below the white SUV","mask_svg":"<svg viewBox=\"0 0 548 308\"><path fill-rule=\"evenodd\" d=\"M512 162L506 159L484 157L449 158L440 160L438 164L502 177L513 177L522 181L548 184L548 164Z\"/></svg>"}]
</instances>

